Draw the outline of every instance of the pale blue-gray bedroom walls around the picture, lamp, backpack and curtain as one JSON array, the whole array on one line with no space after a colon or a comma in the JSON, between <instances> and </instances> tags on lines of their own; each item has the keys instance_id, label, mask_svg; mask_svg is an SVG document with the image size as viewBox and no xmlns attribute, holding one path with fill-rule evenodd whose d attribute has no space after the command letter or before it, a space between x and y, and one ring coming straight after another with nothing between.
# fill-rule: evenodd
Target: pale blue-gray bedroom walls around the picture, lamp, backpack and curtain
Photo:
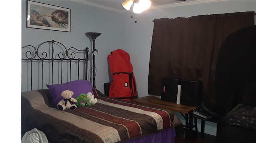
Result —
<instances>
[{"instance_id":1,"label":"pale blue-gray bedroom walls around the picture, lamp, backpack and curtain","mask_svg":"<svg viewBox=\"0 0 256 143\"><path fill-rule=\"evenodd\" d=\"M71 32L50 31L44 29L26 28L26 2L22 0L22 46L36 45L46 40L54 39L67 47L84 49L92 47L86 32L100 32L95 47L96 56L96 88L104 93L103 84L109 82L107 56L115 49L124 49L130 54L134 67L134 75L138 86L139 97L148 96L148 69L152 31L155 18L190 17L204 14L222 14L256 10L256 1L223 1L205 4L179 6L172 8L148 10L137 14L136 20L130 18L130 12L117 13L68 0L40 1L46 4L62 6L71 9ZM135 15L134 15L135 18ZM91 50L90 50L91 51ZM22 69L22 75L26 71ZM22 83L26 80L22 80ZM25 85L26 83L24 83ZM28 88L22 86L22 91ZM179 116L179 114L177 114ZM179 116L183 120L182 116ZM200 122L200 121L198 121ZM198 123L199 127L200 124ZM199 128L200 130L200 128ZM216 124L206 122L206 133L216 135Z\"/></svg>"}]
</instances>

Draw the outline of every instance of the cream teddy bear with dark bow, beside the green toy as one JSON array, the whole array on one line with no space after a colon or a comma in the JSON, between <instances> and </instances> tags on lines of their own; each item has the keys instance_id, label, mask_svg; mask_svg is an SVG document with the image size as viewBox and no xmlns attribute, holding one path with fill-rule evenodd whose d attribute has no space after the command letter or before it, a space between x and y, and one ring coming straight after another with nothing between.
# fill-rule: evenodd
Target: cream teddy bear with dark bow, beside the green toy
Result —
<instances>
[{"instance_id":1,"label":"cream teddy bear with dark bow, beside the green toy","mask_svg":"<svg viewBox=\"0 0 256 143\"><path fill-rule=\"evenodd\" d=\"M63 97L62 100L57 104L58 110L65 110L65 109L70 109L70 110L75 110L76 109L76 102L77 100L75 98L72 98L71 96L74 95L74 92L70 90L64 90L61 93L61 96Z\"/></svg>"}]
</instances>

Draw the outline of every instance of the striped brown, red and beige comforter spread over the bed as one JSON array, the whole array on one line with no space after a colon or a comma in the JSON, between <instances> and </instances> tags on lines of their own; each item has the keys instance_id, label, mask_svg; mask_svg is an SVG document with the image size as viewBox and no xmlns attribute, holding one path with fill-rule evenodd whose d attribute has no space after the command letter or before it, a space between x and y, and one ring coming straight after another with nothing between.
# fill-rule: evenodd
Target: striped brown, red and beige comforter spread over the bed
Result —
<instances>
[{"instance_id":1,"label":"striped brown, red and beige comforter spread over the bed","mask_svg":"<svg viewBox=\"0 0 256 143\"><path fill-rule=\"evenodd\" d=\"M22 131L37 128L50 143L116 143L180 125L169 110L112 99L94 89L95 105L59 111L48 90L22 92Z\"/></svg>"}]
</instances>

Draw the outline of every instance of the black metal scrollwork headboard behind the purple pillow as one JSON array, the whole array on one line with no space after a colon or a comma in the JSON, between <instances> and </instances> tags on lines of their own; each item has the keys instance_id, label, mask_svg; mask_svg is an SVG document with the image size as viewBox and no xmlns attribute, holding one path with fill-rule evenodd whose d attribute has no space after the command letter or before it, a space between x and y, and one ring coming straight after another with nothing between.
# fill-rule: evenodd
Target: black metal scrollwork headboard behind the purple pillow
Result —
<instances>
[{"instance_id":1,"label":"black metal scrollwork headboard behind the purple pillow","mask_svg":"<svg viewBox=\"0 0 256 143\"><path fill-rule=\"evenodd\" d=\"M54 40L22 47L22 86L26 90L43 89L45 84L87 80L88 52L88 47L67 49Z\"/></svg>"}]
</instances>

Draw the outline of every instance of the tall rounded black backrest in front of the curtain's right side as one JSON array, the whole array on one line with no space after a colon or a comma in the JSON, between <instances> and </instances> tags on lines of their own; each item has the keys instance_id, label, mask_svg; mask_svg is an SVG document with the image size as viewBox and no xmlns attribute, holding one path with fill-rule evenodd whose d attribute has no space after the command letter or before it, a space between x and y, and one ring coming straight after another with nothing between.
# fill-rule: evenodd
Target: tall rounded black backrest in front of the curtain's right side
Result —
<instances>
[{"instance_id":1,"label":"tall rounded black backrest in front of the curtain's right side","mask_svg":"<svg viewBox=\"0 0 256 143\"><path fill-rule=\"evenodd\" d=\"M256 81L256 25L235 31L222 44L216 63L215 112L221 116L230 112L241 103L246 84L253 81Z\"/></svg>"}]
</instances>

